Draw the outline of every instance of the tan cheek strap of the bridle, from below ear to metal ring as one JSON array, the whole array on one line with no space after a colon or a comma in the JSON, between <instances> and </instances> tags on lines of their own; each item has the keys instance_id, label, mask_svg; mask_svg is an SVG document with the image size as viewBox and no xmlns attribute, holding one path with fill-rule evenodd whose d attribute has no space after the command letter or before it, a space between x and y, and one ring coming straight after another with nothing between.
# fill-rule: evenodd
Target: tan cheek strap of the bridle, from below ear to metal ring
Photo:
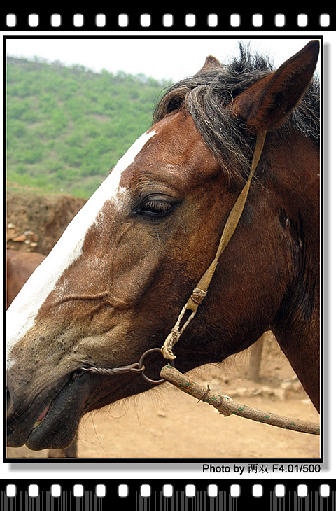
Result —
<instances>
[{"instance_id":1,"label":"tan cheek strap of the bridle, from below ear to metal ring","mask_svg":"<svg viewBox=\"0 0 336 511\"><path fill-rule=\"evenodd\" d=\"M256 141L255 141L255 149L254 149L254 153L253 153L251 169L250 169L250 173L248 175L248 179L245 183L244 188L241 190L241 193L239 194L239 197L237 198L234 206L232 207L232 209L230 211L228 220L225 223L223 233L221 235L221 241L219 242L215 258L211 262L211 265L209 266L207 271L201 277L201 279L200 279L199 283L197 284L197 286L195 287L195 289L193 290L192 295L190 296L188 302L186 303L186 305L183 307L183 309L181 311L179 319L176 321L176 325L174 326L174 328L172 328L172 332L169 333L167 339L165 340L165 344L161 348L162 355L169 360L174 360L174 358L176 358L176 356L172 352L172 348L173 348L174 344L176 344L176 342L179 341L179 338L181 337L182 333L184 332L184 330L186 330L190 321L195 316L199 305L202 303L202 300L204 300L204 298L207 296L207 290L211 283L211 279L214 276L214 272L216 270L218 260L221 257L223 251L225 250L226 246L228 245L228 242L230 241L233 233L235 232L235 230L237 228L237 225L241 218L241 214L242 214L242 212L244 210L244 206L246 204L248 191L250 190L251 181L252 181L253 175L255 173L255 169L257 168L258 162L260 160L262 149L263 149L264 143L265 143L265 137L266 137L266 131L263 130L263 131L258 132ZM187 310L191 311L191 314L188 317L187 321L180 328L182 318L185 315Z\"/></svg>"}]
</instances>

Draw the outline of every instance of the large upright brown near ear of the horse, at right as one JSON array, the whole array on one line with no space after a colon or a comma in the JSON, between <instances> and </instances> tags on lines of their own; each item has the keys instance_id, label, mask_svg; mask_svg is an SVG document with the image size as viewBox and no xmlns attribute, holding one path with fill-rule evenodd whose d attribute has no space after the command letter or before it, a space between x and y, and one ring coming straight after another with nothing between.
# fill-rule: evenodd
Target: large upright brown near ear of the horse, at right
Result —
<instances>
[{"instance_id":1,"label":"large upright brown near ear of the horse, at right","mask_svg":"<svg viewBox=\"0 0 336 511\"><path fill-rule=\"evenodd\" d=\"M318 59L319 43L310 41L274 73L244 90L229 105L253 132L276 130L307 90Z\"/></svg>"}]
</instances>

